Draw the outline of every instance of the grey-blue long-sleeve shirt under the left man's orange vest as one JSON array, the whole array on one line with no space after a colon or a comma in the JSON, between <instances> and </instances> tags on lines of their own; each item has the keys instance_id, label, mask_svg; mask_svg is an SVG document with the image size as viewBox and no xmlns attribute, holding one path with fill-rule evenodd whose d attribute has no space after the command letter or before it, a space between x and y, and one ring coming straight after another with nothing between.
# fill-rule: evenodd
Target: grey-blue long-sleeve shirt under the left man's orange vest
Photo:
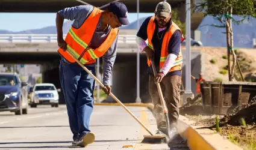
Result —
<instances>
[{"instance_id":1,"label":"grey-blue long-sleeve shirt under the left man's orange vest","mask_svg":"<svg viewBox=\"0 0 256 150\"><path fill-rule=\"evenodd\" d=\"M73 28L80 28L83 25L84 21L87 19L89 14L92 12L93 7L91 5L79 5L75 7L67 7L63 10L58 11L58 13L68 20L73 20ZM110 32L111 27L108 26L107 32L98 31L101 26L101 18L99 19L98 26L96 27L95 33L91 41L90 47L96 49L99 47L107 38L108 33ZM111 71L116 59L116 49L117 49L117 37L114 40L114 43L111 45L110 49L102 56L103 58L103 78L102 83L104 85L111 85ZM95 65L95 64L92 64Z\"/></svg>"}]
</instances>

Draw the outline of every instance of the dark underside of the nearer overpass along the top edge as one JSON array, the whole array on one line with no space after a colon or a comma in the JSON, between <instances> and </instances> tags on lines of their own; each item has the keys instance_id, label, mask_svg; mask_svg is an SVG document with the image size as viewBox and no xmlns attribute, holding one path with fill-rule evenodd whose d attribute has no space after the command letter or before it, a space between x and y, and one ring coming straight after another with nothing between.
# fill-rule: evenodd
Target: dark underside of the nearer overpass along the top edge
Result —
<instances>
[{"instance_id":1,"label":"dark underside of the nearer overpass along the top edge","mask_svg":"<svg viewBox=\"0 0 256 150\"><path fill-rule=\"evenodd\" d=\"M100 7L108 4L111 0L83 0L88 4ZM137 12L136 0L120 0L127 7L129 13ZM155 6L161 0L140 0L140 13L154 13ZM186 0L167 0L173 8L179 11L181 22L186 22ZM200 2L200 0L191 0L191 4ZM0 13L1 12L14 12L14 13L56 13L65 7L73 7L75 5L83 5L76 0L0 0ZM104 10L104 8L103 8ZM193 13L191 17L191 29L195 31L202 19L202 13Z\"/></svg>"}]
</instances>

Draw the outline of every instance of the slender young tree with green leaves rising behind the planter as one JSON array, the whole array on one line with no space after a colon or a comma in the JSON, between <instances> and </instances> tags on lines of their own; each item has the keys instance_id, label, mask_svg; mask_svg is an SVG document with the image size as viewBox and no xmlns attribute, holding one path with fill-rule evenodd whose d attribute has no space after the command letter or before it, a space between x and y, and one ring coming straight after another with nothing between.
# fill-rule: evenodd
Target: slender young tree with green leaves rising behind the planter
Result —
<instances>
[{"instance_id":1,"label":"slender young tree with green leaves rising behind the planter","mask_svg":"<svg viewBox=\"0 0 256 150\"><path fill-rule=\"evenodd\" d=\"M205 16L213 16L218 20L220 25L210 25L217 28L225 28L226 32L226 47L228 53L228 79L234 80L234 71L237 59L233 46L233 29L232 25L240 25L245 20L250 20L251 17L256 17L256 1L255 0L202 0L201 3L194 7L194 11L199 11ZM242 19L234 19L233 14L237 14ZM233 22L233 23L232 23ZM230 67L230 55L233 55L233 64ZM242 73L241 73L242 75Z\"/></svg>"}]
</instances>

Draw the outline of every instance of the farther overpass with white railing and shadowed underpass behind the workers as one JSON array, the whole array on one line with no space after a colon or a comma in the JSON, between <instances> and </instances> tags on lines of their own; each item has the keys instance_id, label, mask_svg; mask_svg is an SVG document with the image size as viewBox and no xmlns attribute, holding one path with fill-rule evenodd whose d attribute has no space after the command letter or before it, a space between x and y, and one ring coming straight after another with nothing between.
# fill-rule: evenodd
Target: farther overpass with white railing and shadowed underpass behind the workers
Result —
<instances>
[{"instance_id":1,"label":"farther overpass with white railing and shadowed underpass behind the workers","mask_svg":"<svg viewBox=\"0 0 256 150\"><path fill-rule=\"evenodd\" d=\"M57 35L0 35L0 64L40 64L43 82L60 87ZM65 35L64 35L65 37ZM113 93L124 103L136 100L137 45L134 35L119 35L117 58L113 67ZM185 50L183 50L183 83L185 82ZM102 59L100 59L102 63ZM195 66L195 67L193 67ZM201 53L192 52L192 73L201 71ZM100 71L101 72L101 71ZM184 85L186 86L186 85ZM195 92L192 81L192 91ZM149 101L145 54L140 54L140 96ZM111 97L107 99L113 101ZM63 99L61 101L64 102Z\"/></svg>"}]
</instances>

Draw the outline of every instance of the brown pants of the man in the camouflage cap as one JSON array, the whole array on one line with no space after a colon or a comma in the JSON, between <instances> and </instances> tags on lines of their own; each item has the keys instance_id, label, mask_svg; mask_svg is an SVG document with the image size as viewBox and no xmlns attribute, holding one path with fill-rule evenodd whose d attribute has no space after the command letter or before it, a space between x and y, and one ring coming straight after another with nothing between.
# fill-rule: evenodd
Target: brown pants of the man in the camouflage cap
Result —
<instances>
[{"instance_id":1,"label":"brown pants of the man in the camouflage cap","mask_svg":"<svg viewBox=\"0 0 256 150\"><path fill-rule=\"evenodd\" d=\"M170 125L175 124L179 118L180 104L180 76L165 76L160 83L164 100L168 109ZM149 94L154 104L154 116L157 120L158 130L166 133L166 119L164 118L163 108L158 94L157 85L154 82L154 76L149 76Z\"/></svg>"}]
</instances>

